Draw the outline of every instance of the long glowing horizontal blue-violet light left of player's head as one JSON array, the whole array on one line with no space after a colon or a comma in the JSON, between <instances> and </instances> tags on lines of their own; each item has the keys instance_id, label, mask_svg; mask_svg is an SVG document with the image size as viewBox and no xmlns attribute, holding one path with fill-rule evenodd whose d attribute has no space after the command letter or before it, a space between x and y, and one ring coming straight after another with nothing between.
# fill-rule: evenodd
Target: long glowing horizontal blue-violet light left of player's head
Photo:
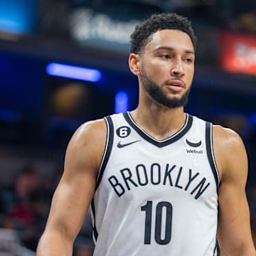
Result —
<instances>
[{"instance_id":1,"label":"long glowing horizontal blue-violet light left of player's head","mask_svg":"<svg viewBox=\"0 0 256 256\"><path fill-rule=\"evenodd\" d=\"M90 82L97 82L102 77L99 70L58 63L48 64L46 67L46 73L48 73L48 75L56 75L63 78L73 78Z\"/></svg>"}]
</instances>

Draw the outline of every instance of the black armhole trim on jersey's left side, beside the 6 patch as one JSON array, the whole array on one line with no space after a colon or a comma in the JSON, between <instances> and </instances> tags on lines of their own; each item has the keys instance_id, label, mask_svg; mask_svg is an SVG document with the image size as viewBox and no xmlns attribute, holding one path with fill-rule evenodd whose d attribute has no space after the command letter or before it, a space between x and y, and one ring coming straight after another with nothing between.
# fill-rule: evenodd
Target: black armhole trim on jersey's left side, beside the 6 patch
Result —
<instances>
[{"instance_id":1,"label":"black armhole trim on jersey's left side, beside the 6 patch","mask_svg":"<svg viewBox=\"0 0 256 256\"><path fill-rule=\"evenodd\" d=\"M105 146L105 152L102 157L102 163L100 164L100 170L97 177L97 182L95 186L95 191L98 186L100 186L100 181L102 180L103 173L105 171L105 167L107 166L107 161L110 158L110 153L112 151L113 140L114 140L114 124L110 116L104 118L107 123L107 142Z\"/></svg>"}]
</instances>

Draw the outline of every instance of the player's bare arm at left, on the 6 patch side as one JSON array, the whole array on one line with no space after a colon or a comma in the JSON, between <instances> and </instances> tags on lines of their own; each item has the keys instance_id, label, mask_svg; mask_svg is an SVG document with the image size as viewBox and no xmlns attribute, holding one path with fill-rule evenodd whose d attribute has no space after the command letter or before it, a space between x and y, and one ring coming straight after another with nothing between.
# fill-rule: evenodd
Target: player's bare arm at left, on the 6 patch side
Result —
<instances>
[{"instance_id":1,"label":"player's bare arm at left, on the 6 patch side","mask_svg":"<svg viewBox=\"0 0 256 256\"><path fill-rule=\"evenodd\" d=\"M73 242L90 206L106 141L104 120L83 124L70 139L63 176L36 255L73 255Z\"/></svg>"}]
</instances>

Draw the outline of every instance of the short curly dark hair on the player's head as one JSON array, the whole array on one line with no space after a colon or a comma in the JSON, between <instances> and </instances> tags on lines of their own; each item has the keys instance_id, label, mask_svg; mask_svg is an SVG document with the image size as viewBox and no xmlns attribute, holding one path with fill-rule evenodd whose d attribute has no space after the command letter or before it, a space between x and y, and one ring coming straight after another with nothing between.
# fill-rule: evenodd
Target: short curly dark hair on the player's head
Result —
<instances>
[{"instance_id":1,"label":"short curly dark hair on the player's head","mask_svg":"<svg viewBox=\"0 0 256 256\"><path fill-rule=\"evenodd\" d=\"M194 50L196 50L196 35L191 26L191 21L175 13L163 13L153 14L135 27L131 35L130 53L142 53L146 44L151 41L151 36L156 31L164 29L176 29L187 33L191 38Z\"/></svg>"}]
</instances>

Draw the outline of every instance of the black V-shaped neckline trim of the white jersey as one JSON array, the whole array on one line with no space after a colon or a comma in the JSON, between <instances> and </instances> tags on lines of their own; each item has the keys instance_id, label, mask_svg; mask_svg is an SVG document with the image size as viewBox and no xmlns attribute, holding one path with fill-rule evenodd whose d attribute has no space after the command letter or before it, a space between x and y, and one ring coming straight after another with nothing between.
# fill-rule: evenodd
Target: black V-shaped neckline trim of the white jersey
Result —
<instances>
[{"instance_id":1,"label":"black V-shaped neckline trim of the white jersey","mask_svg":"<svg viewBox=\"0 0 256 256\"><path fill-rule=\"evenodd\" d=\"M124 118L128 122L128 124L147 142L154 144L155 146L158 146L159 148L163 146L167 146L171 143L176 142L178 139L181 139L184 134L188 132L188 130L191 128L192 123L193 123L193 117L190 114L186 114L186 122L183 125L183 127L176 132L176 134L172 135L171 137L164 139L162 141L159 141L157 139L154 139L151 137L149 134L146 134L132 119L131 114L129 112L124 112Z\"/></svg>"}]
</instances>

